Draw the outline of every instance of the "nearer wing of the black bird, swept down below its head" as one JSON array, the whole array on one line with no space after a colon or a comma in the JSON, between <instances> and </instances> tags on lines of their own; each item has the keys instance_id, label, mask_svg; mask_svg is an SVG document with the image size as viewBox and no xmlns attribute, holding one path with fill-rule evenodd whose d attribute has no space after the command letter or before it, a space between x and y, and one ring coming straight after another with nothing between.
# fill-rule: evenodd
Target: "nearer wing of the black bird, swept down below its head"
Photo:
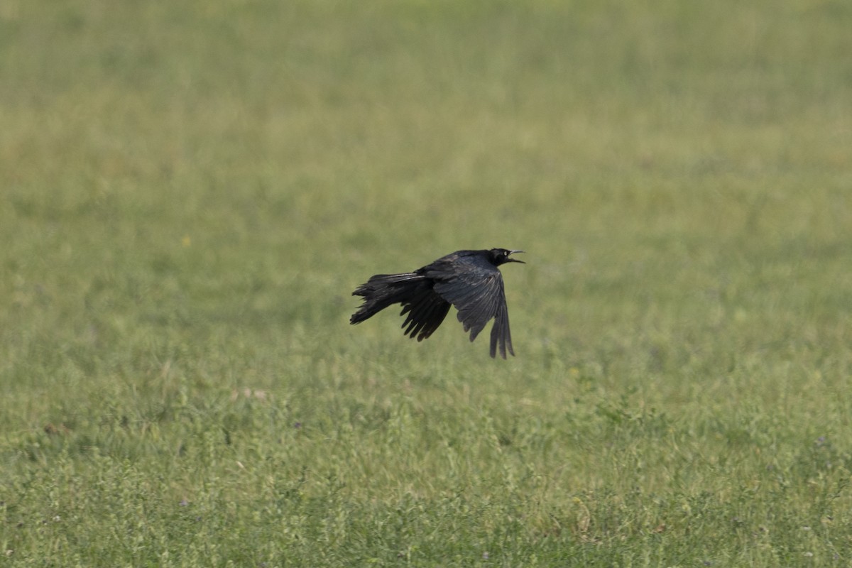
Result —
<instances>
[{"instance_id":1,"label":"nearer wing of the black bird, swept down below its head","mask_svg":"<svg viewBox=\"0 0 852 568\"><path fill-rule=\"evenodd\" d=\"M497 355L498 346L503 359L506 359L507 349L515 354L509 333L503 277L497 267L482 259L467 257L458 259L452 271L435 267L427 274L435 278L435 292L458 309L458 321L462 322L465 331L470 331L470 341L474 341L488 321L494 318L491 356Z\"/></svg>"}]
</instances>

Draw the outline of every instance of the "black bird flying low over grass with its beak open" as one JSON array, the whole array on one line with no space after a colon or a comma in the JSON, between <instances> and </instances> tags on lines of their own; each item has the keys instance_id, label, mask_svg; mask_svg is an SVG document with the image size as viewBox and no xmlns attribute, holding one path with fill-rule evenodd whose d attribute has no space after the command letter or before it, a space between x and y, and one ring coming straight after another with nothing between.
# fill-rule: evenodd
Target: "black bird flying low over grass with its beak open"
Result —
<instances>
[{"instance_id":1,"label":"black bird flying low over grass with its beak open","mask_svg":"<svg viewBox=\"0 0 852 568\"><path fill-rule=\"evenodd\" d=\"M506 262L523 264L509 258L517 252L523 250L457 250L413 273L376 274L352 293L363 296L364 303L349 323L358 324L392 304L401 304L400 316L408 314L402 324L408 326L405 335L423 341L438 329L452 304L458 309L458 321L470 331L470 341L494 318L491 356L496 356L499 343L500 355L506 359L507 348L512 355L515 352L503 276L497 267Z\"/></svg>"}]
</instances>

